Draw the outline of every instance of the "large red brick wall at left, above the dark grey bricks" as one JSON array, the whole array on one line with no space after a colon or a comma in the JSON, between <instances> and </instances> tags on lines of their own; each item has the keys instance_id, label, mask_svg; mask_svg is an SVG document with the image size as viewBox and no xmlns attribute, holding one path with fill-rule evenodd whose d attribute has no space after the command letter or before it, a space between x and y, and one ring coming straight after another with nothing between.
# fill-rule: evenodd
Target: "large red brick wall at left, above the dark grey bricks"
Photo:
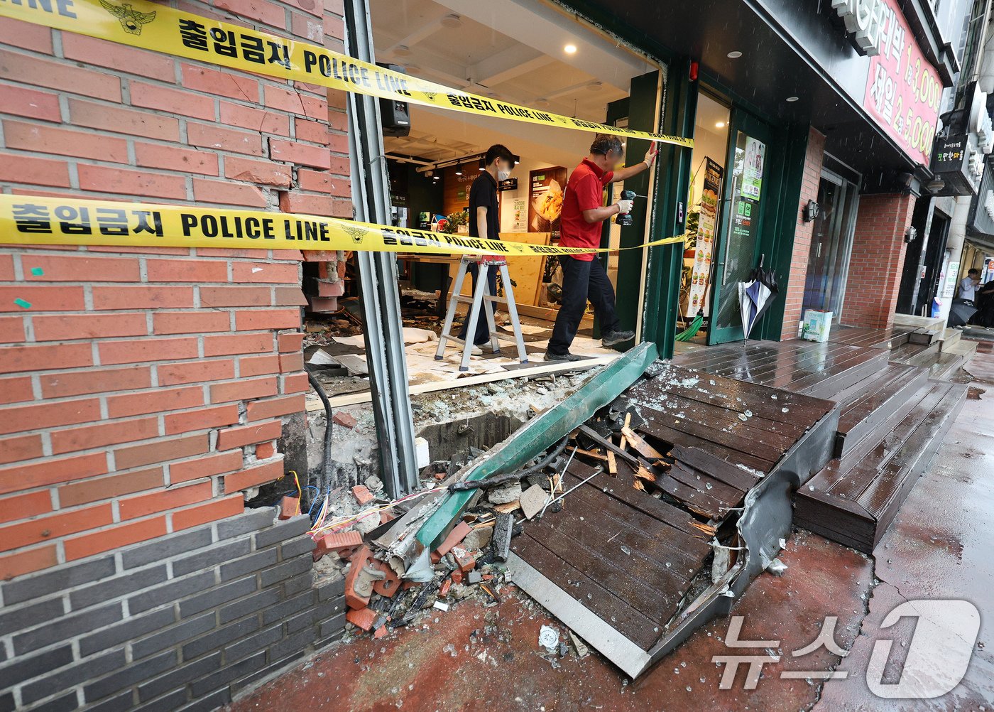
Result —
<instances>
[{"instance_id":1,"label":"large red brick wall at left, above the dark grey bricks","mask_svg":"<svg viewBox=\"0 0 994 712\"><path fill-rule=\"evenodd\" d=\"M328 2L181 7L340 50ZM4 193L351 217L344 105L0 19ZM283 475L273 443L307 388L300 259L0 248L0 578L229 516Z\"/></svg>"}]
</instances>

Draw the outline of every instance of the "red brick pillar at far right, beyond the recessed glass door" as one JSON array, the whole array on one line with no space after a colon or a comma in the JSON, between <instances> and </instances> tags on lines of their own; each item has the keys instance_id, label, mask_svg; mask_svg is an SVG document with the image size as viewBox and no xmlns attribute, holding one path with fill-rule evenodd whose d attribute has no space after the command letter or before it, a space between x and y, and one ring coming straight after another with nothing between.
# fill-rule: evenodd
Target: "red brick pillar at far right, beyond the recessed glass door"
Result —
<instances>
[{"instance_id":1,"label":"red brick pillar at far right, beyond the recessed glass door","mask_svg":"<svg viewBox=\"0 0 994 712\"><path fill-rule=\"evenodd\" d=\"M905 266L905 232L911 225L913 212L912 195L860 196L842 304L843 324L875 329L894 324L901 271Z\"/></svg>"}]
</instances>

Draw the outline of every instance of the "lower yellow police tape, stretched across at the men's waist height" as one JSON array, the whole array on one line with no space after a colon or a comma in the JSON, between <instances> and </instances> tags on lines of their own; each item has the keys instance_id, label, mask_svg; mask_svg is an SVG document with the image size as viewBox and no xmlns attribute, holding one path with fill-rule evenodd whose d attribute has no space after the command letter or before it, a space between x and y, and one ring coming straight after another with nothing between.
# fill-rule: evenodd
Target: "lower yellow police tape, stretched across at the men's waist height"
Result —
<instances>
[{"instance_id":1,"label":"lower yellow police tape, stretched across at the men's waist height","mask_svg":"<svg viewBox=\"0 0 994 712\"><path fill-rule=\"evenodd\" d=\"M685 237L655 240L622 250L682 243ZM612 252L478 240L316 215L19 195L0 195L0 244L356 250L505 257Z\"/></svg>"}]
</instances>

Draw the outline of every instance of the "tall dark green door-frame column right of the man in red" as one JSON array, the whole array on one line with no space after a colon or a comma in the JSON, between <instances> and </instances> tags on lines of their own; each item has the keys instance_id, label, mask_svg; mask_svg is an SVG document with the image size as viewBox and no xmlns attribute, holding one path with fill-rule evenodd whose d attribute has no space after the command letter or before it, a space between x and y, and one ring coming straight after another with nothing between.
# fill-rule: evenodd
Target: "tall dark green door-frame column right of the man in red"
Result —
<instances>
[{"instance_id":1,"label":"tall dark green door-frame column right of the man in red","mask_svg":"<svg viewBox=\"0 0 994 712\"><path fill-rule=\"evenodd\" d=\"M675 60L668 66L663 102L664 133L694 136L697 115L698 85L689 78L690 59ZM691 151L661 144L659 147L658 186L652 196L653 240L681 235L690 194ZM680 307L680 278L683 270L683 245L662 245L649 250L646 267L645 302L642 311L642 339L653 341L662 358L673 355L677 310Z\"/></svg>"}]
</instances>

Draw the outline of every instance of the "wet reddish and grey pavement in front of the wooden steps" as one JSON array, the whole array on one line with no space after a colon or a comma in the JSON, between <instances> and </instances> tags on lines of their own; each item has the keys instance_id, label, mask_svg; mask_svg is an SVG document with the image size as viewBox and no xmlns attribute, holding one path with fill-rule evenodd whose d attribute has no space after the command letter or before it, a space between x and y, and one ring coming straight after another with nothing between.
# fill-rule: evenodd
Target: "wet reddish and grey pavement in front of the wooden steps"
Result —
<instances>
[{"instance_id":1,"label":"wet reddish and grey pavement in front of the wooden steps","mask_svg":"<svg viewBox=\"0 0 994 712\"><path fill-rule=\"evenodd\" d=\"M994 365L994 356L978 354L976 360ZM989 544L994 384L976 385L987 393L966 402L878 547L876 572L874 559L795 532L780 557L787 570L781 577L758 577L733 611L733 617L743 617L740 645L751 645L726 645L734 619L716 619L631 682L596 653L582 659L572 648L563 658L545 653L538 645L540 627L552 625L561 636L566 629L511 587L490 608L466 601L387 637L363 636L338 644L231 709L991 709L994 623L986 615L994 611L994 552ZM935 699L882 699L871 691L868 677L871 683L898 682L912 656L919 660L923 655L926 661L914 668L926 670L920 682L940 686L943 674L956 674L954 653L966 644L957 643L956 634L968 636L962 631L969 625L950 619L956 629L940 628L929 640L926 626L918 623L921 639L914 644L914 618L882 628L887 614L906 601L933 599L965 599L979 609L979 637L965 677L952 692ZM960 619L969 618L964 612ZM825 622L832 616L837 617L835 644L849 651L847 656L825 645L794 655L818 638L823 625L831 629L832 622ZM884 650L881 656L883 641L890 639L895 641L890 655ZM882 668L876 677L867 673L875 646L881 648L876 661ZM761 663L754 689L747 689L747 663L739 666L731 688L722 689L726 665L713 656L730 654L756 656L757 666ZM826 681L832 672L846 677Z\"/></svg>"}]
</instances>

